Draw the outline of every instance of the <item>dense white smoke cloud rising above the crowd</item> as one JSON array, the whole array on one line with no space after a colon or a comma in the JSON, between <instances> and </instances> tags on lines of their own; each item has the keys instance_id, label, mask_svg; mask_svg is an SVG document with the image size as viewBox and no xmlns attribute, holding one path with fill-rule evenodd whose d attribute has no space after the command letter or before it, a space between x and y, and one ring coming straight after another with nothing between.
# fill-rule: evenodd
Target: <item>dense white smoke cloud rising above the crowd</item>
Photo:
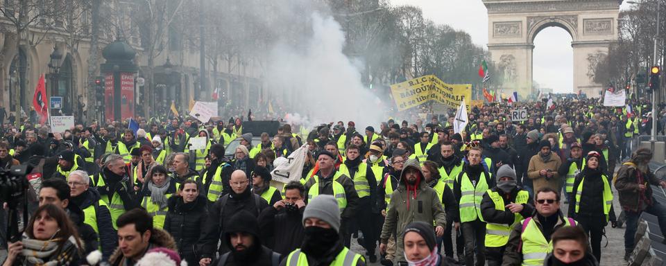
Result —
<instances>
[{"instance_id":1,"label":"dense white smoke cloud rising above the crowd","mask_svg":"<svg viewBox=\"0 0 666 266\"><path fill-rule=\"evenodd\" d=\"M379 125L386 119L384 103L361 83L358 64L343 53L340 24L319 12L309 21L311 35L302 45L278 42L268 57L271 94L292 99L289 109L298 113L287 120L306 125L355 121L357 129Z\"/></svg>"}]
</instances>

